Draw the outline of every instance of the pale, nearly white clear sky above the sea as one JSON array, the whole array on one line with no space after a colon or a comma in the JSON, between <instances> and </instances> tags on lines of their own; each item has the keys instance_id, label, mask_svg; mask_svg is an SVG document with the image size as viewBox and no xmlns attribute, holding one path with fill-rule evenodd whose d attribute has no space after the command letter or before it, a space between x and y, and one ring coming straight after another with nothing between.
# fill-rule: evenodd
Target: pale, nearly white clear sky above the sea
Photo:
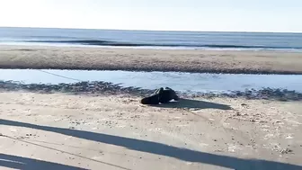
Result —
<instances>
[{"instance_id":1,"label":"pale, nearly white clear sky above the sea","mask_svg":"<svg viewBox=\"0 0 302 170\"><path fill-rule=\"evenodd\" d=\"M302 32L302 0L0 0L0 26Z\"/></svg>"}]
</instances>

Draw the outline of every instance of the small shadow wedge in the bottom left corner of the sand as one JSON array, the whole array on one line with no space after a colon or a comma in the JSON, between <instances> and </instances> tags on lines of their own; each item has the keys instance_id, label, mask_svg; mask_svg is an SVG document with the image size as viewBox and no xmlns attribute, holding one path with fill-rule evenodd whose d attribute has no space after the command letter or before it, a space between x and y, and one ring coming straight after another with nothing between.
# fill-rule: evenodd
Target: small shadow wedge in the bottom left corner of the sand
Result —
<instances>
[{"instance_id":1,"label":"small shadow wedge in the bottom left corner of the sand","mask_svg":"<svg viewBox=\"0 0 302 170\"><path fill-rule=\"evenodd\" d=\"M18 157L6 154L0 154L0 167L8 167L13 169L23 169L23 170L85 170L84 168L76 166L66 166L58 163L46 162L37 159L32 159L28 157Z\"/></svg>"}]
</instances>

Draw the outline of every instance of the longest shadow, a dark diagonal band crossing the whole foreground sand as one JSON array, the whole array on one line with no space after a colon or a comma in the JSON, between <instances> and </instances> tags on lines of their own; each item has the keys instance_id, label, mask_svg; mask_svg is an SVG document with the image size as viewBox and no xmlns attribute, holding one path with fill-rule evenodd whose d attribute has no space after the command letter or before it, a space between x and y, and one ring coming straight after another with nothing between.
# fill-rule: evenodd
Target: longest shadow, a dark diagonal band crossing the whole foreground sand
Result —
<instances>
[{"instance_id":1,"label":"longest shadow, a dark diagonal band crossing the whole foreground sand","mask_svg":"<svg viewBox=\"0 0 302 170\"><path fill-rule=\"evenodd\" d=\"M298 170L302 169L302 166L290 165L286 163L267 161L261 159L243 159L237 157L219 156L215 154L195 151L187 148L176 148L168 146L162 143L141 140L141 139L129 139L125 137L118 137L113 135L107 135L102 133L95 133L84 130L69 130L63 128L40 126L30 123L24 123L19 121L0 120L0 125L26 127L36 130L46 130L51 132L57 132L67 136L72 136L80 139L88 139L97 142L102 142L119 147L129 148L131 150L137 150L150 154L155 154L165 157L173 157L181 159L183 161L204 163L214 166L222 166L232 168L236 170L249 170L249 169L290 169Z\"/></svg>"}]
</instances>

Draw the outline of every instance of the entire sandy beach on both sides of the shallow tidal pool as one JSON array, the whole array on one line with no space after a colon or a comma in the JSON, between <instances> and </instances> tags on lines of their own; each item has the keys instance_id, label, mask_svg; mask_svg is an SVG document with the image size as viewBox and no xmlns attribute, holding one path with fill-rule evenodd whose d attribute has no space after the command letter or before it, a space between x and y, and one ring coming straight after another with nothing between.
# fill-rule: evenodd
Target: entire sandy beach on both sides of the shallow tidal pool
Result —
<instances>
[{"instance_id":1,"label":"entire sandy beach on both sides of the shallow tidal pool","mask_svg":"<svg viewBox=\"0 0 302 170\"><path fill-rule=\"evenodd\" d=\"M300 57L0 46L2 68L301 74ZM302 169L301 94L181 95L147 106L139 100L148 91L81 85L0 84L1 169Z\"/></svg>"}]
</instances>

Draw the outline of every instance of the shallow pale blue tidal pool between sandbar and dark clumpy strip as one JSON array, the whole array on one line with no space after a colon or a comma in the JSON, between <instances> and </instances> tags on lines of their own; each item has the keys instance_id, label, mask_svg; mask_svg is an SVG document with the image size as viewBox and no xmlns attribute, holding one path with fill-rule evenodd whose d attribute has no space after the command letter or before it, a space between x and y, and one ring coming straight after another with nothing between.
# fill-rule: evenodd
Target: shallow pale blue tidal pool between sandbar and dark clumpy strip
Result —
<instances>
[{"instance_id":1,"label":"shallow pale blue tidal pool between sandbar and dark clumpy strip","mask_svg":"<svg viewBox=\"0 0 302 170\"><path fill-rule=\"evenodd\" d=\"M0 69L0 80L21 81L25 84L59 84L78 81L104 81L122 86L155 89L172 87L180 92L227 92L264 87L302 92L299 75L232 75L177 72L130 72L87 70Z\"/></svg>"}]
</instances>

